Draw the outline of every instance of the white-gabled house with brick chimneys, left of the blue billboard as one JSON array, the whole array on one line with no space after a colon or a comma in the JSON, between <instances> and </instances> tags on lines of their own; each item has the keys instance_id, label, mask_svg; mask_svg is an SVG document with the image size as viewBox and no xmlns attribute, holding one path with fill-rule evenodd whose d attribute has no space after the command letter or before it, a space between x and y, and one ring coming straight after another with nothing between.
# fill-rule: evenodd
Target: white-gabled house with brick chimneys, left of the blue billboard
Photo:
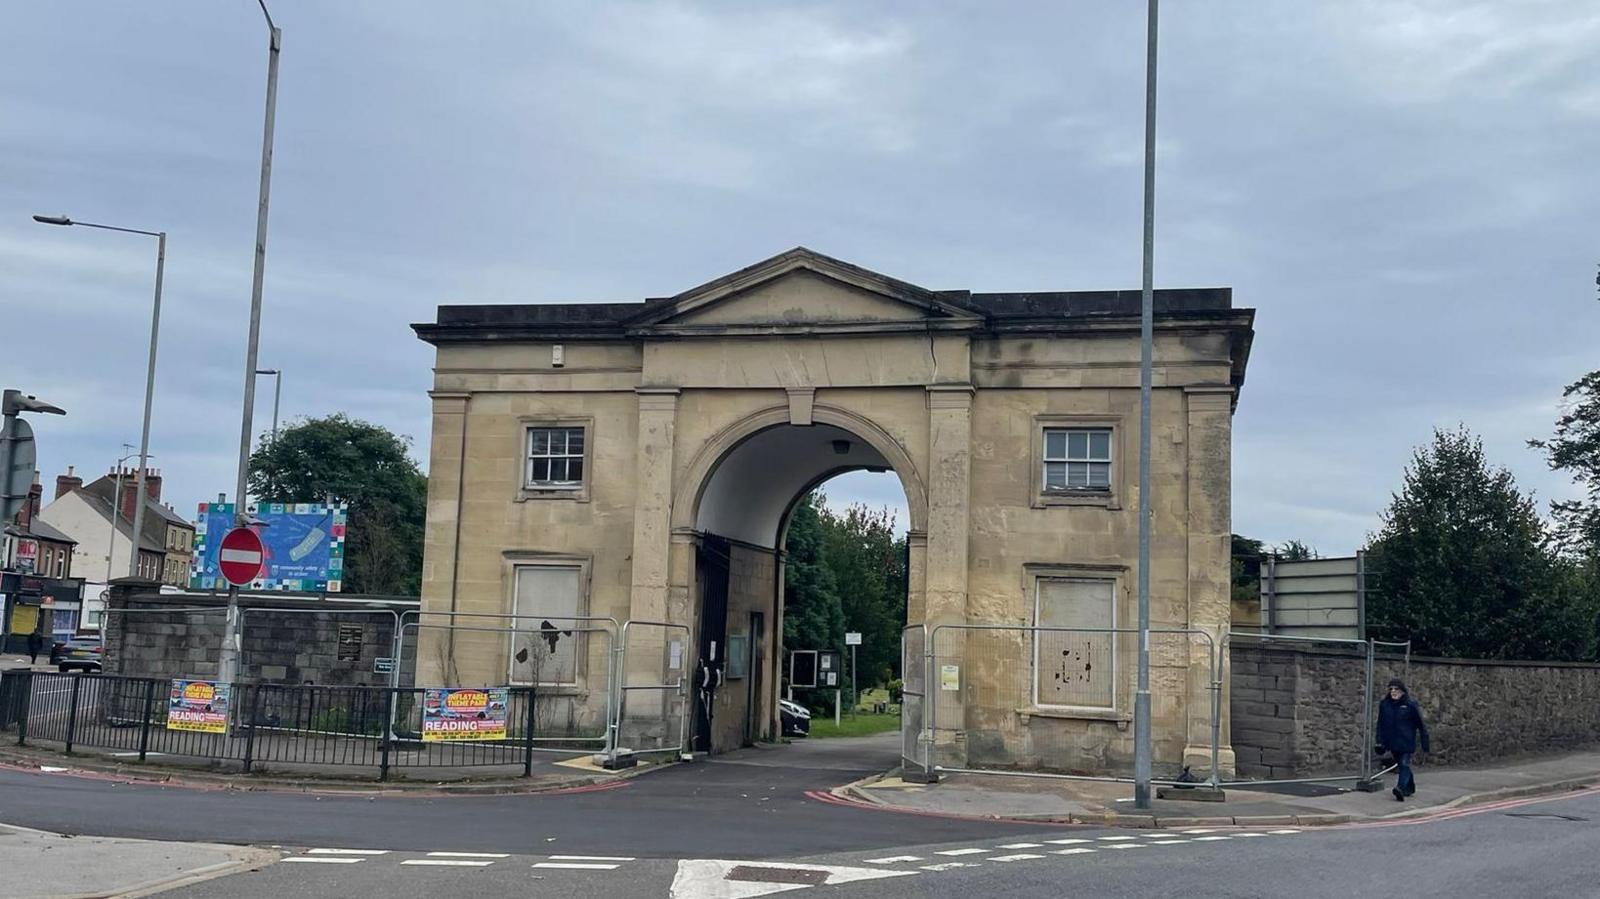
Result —
<instances>
[{"instance_id":1,"label":"white-gabled house with brick chimneys, left of the blue billboard","mask_svg":"<svg viewBox=\"0 0 1600 899\"><path fill-rule=\"evenodd\" d=\"M122 577L138 552L141 577L171 587L187 585L195 526L162 504L162 473L152 469L144 473L144 521L134 541L133 518L139 499L136 469L112 470L83 483L69 467L56 478L56 497L40 518L77 541L74 568L86 577L102 582ZM99 625L96 609L85 616L85 625Z\"/></svg>"}]
</instances>

